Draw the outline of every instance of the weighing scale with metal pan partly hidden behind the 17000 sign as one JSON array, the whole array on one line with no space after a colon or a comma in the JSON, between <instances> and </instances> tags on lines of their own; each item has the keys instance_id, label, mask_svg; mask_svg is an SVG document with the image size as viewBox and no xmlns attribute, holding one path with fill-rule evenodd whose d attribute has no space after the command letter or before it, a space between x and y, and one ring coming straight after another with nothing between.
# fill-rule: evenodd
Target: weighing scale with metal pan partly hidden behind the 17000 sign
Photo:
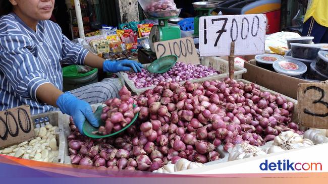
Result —
<instances>
[{"instance_id":1,"label":"weighing scale with metal pan partly hidden behind the 17000 sign","mask_svg":"<svg viewBox=\"0 0 328 184\"><path fill-rule=\"evenodd\" d=\"M194 34L193 36L199 35L199 19L200 17L211 16L210 12L217 8L219 2L195 2L192 5L197 11L198 16L194 19Z\"/></svg>"}]
</instances>

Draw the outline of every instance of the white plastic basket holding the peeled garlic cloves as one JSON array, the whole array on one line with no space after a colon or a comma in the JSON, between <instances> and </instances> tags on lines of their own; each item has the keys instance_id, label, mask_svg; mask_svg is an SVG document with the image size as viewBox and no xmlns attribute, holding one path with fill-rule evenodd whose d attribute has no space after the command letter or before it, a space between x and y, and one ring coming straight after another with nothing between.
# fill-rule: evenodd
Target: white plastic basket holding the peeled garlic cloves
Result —
<instances>
[{"instance_id":1,"label":"white plastic basket holding the peeled garlic cloves","mask_svg":"<svg viewBox=\"0 0 328 184\"><path fill-rule=\"evenodd\" d=\"M48 124L58 127L58 130L56 131L56 141L59 153L58 157L53 159L53 162L64 163L67 141L64 135L63 113L61 111L46 112L32 115L31 118L32 121L35 122L35 128L44 127Z\"/></svg>"}]
</instances>

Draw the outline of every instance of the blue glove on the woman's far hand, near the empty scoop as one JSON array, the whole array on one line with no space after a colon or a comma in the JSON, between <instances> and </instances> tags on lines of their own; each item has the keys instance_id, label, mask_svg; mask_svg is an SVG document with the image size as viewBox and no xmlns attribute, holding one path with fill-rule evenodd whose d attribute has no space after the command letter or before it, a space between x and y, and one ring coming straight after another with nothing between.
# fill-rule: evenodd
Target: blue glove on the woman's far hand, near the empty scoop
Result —
<instances>
[{"instance_id":1,"label":"blue glove on the woman's far hand, near the empty scoop","mask_svg":"<svg viewBox=\"0 0 328 184\"><path fill-rule=\"evenodd\" d=\"M111 72L111 73L118 73L118 72L127 72L130 71L131 68L134 70L134 72L141 72L141 68L143 66L135 62L134 60L120 60L118 62L111 62L110 60L105 60L103 62L103 71L104 72Z\"/></svg>"}]
</instances>

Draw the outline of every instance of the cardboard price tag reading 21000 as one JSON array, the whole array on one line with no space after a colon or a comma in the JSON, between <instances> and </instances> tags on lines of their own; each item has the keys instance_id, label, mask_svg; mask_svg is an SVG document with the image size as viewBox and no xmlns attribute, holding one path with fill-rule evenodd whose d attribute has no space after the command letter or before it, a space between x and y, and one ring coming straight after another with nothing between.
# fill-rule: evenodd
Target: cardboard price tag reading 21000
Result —
<instances>
[{"instance_id":1,"label":"cardboard price tag reading 21000","mask_svg":"<svg viewBox=\"0 0 328 184\"><path fill-rule=\"evenodd\" d=\"M176 55L178 56L178 62L193 65L200 63L194 40L191 37L156 42L154 47L157 58Z\"/></svg>"}]
</instances>

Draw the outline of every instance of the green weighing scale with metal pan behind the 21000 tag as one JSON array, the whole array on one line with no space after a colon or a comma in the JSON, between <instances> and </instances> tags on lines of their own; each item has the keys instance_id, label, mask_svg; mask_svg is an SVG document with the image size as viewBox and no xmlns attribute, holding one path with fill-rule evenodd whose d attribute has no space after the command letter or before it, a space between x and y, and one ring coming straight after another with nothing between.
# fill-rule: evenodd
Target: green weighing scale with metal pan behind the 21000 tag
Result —
<instances>
[{"instance_id":1,"label":"green weighing scale with metal pan behind the 21000 tag","mask_svg":"<svg viewBox=\"0 0 328 184\"><path fill-rule=\"evenodd\" d=\"M169 25L171 18L178 17L181 9L144 12L145 16L150 20L158 20L158 25L154 25L149 34L149 44L151 51L155 52L154 43L159 41L167 41L181 38L180 26Z\"/></svg>"}]
</instances>

